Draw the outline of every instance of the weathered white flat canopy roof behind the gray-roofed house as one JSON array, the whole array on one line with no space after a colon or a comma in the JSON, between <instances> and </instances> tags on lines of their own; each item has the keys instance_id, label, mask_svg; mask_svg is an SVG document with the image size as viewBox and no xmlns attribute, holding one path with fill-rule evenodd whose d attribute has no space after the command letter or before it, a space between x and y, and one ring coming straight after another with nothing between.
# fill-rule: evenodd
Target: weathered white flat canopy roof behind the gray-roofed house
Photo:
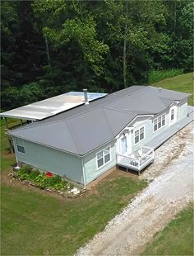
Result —
<instances>
[{"instance_id":1,"label":"weathered white flat canopy roof behind the gray-roofed house","mask_svg":"<svg viewBox=\"0 0 194 256\"><path fill-rule=\"evenodd\" d=\"M87 92L87 95L88 101L91 102L100 97L105 97L107 93ZM2 112L0 116L37 121L49 116L54 116L62 111L67 111L84 103L84 92L67 92L40 102Z\"/></svg>"}]
</instances>

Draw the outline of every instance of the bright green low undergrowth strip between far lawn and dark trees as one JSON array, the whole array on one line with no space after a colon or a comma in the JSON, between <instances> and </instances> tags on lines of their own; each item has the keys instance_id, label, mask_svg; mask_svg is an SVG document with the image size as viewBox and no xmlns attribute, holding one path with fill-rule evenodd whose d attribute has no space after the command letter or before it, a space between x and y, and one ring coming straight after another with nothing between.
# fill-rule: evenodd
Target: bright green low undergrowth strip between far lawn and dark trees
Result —
<instances>
[{"instance_id":1,"label":"bright green low undergrowth strip between far lawn and dark trees","mask_svg":"<svg viewBox=\"0 0 194 256\"><path fill-rule=\"evenodd\" d=\"M173 78L182 74L183 69L150 70L148 73L148 83L157 83L165 78Z\"/></svg>"}]
</instances>

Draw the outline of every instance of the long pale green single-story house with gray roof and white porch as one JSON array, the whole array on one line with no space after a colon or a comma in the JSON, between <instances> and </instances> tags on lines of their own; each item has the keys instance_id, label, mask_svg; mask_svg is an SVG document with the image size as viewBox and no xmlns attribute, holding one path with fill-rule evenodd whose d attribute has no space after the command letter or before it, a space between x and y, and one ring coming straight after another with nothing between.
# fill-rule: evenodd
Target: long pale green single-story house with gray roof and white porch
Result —
<instances>
[{"instance_id":1,"label":"long pale green single-story house with gray roof and white porch","mask_svg":"<svg viewBox=\"0 0 194 256\"><path fill-rule=\"evenodd\" d=\"M132 86L15 130L18 164L86 186L110 168L141 172L154 149L192 121L189 94ZM87 102L88 103L88 102Z\"/></svg>"}]
</instances>

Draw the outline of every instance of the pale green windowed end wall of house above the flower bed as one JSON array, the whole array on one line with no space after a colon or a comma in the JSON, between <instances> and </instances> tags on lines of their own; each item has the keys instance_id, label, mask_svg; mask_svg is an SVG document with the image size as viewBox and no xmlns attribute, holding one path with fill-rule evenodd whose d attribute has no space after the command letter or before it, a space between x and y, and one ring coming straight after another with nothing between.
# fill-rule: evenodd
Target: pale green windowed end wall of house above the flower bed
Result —
<instances>
[{"instance_id":1,"label":"pale green windowed end wall of house above the flower bed","mask_svg":"<svg viewBox=\"0 0 194 256\"><path fill-rule=\"evenodd\" d=\"M26 140L23 140L25 154L22 154L16 149L15 138L13 142L17 161L83 184L81 158Z\"/></svg>"}]
</instances>

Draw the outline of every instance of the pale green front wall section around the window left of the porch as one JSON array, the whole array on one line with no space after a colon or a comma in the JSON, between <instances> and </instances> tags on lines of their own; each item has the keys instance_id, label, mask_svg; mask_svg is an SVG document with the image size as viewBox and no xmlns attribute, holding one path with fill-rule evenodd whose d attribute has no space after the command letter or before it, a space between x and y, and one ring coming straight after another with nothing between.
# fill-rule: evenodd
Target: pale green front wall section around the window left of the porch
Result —
<instances>
[{"instance_id":1,"label":"pale green front wall section around the window left of the porch","mask_svg":"<svg viewBox=\"0 0 194 256\"><path fill-rule=\"evenodd\" d=\"M97 168L97 158L96 154L106 147L110 146L110 159L111 161L105 164L102 168ZM86 184L98 178L101 174L105 173L116 165L116 151L115 151L115 141L112 141L99 149L92 151L90 154L86 154L83 158L84 168L85 168L85 182Z\"/></svg>"}]
</instances>

